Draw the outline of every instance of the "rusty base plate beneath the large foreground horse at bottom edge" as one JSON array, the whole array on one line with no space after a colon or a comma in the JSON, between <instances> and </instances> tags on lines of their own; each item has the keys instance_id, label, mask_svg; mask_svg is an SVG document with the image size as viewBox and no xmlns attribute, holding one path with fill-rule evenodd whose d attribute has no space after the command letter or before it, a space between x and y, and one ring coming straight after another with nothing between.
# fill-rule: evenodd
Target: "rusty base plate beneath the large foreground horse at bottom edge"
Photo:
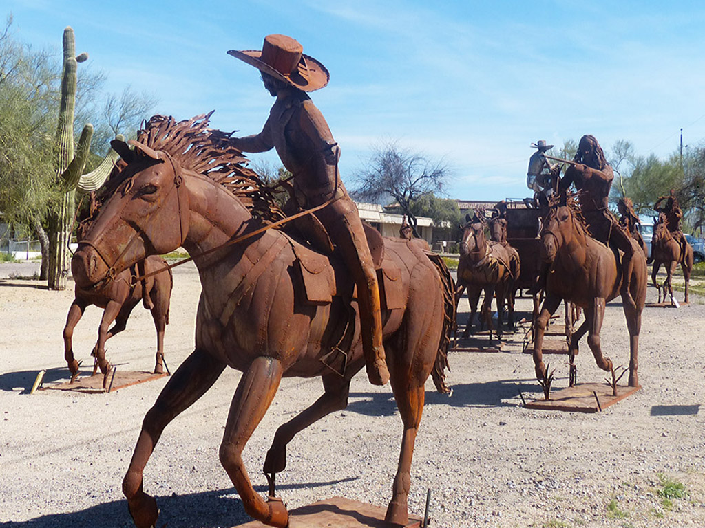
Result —
<instances>
[{"instance_id":1,"label":"rusty base plate beneath the large foreground horse at bottom edge","mask_svg":"<svg viewBox=\"0 0 705 528\"><path fill-rule=\"evenodd\" d=\"M332 497L302 506L289 512L289 528L399 528L400 524L385 522L386 508ZM405 528L420 528L421 519L409 517ZM238 524L235 528L267 528L259 521Z\"/></svg>"}]
</instances>

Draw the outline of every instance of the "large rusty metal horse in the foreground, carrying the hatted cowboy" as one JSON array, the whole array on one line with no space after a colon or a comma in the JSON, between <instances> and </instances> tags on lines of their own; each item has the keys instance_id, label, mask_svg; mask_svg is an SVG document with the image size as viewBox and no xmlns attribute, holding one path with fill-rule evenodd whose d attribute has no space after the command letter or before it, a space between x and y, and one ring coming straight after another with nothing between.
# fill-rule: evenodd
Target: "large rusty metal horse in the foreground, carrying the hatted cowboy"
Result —
<instances>
[{"instance_id":1,"label":"large rusty metal horse in the foreground, carrying the hatted cowboy","mask_svg":"<svg viewBox=\"0 0 705 528\"><path fill-rule=\"evenodd\" d=\"M229 366L243 375L228 413L221 463L249 515L286 527L286 506L274 496L274 476L286 467L286 445L305 427L345 408L350 379L364 365L357 303L350 301L353 282L335 263L317 268L314 290L332 293L332 301L307 299L300 266L315 268L327 257L279 230L261 229L263 222L253 214L259 215L266 192L258 189L254 172L240 165L245 161L240 152L220 146L206 125L204 116L179 123L155 116L137 142L130 142L135 151L114 142L128 163L125 183L104 204L76 252L87 286L104 280L110 270L183 246L203 287L195 350L145 416L123 493L137 527L154 526L157 503L142 489L147 460L164 427ZM412 241L386 239L384 248L384 273L396 270L399 298L405 301L382 313L391 386L404 426L386 520L405 524L424 382L431 374L439 390L448 390L443 369L454 324L453 279L442 260ZM298 258L302 254L305 262ZM264 462L270 484L265 501L252 488L242 453L281 378L293 376L321 377L324 394L277 430Z\"/></svg>"}]
</instances>

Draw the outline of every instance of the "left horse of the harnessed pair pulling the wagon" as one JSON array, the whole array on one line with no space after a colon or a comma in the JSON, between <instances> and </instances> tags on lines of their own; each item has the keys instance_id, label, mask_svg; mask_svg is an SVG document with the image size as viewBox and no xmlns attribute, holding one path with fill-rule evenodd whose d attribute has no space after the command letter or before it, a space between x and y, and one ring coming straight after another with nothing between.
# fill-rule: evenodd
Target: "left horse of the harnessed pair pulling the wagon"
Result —
<instances>
[{"instance_id":1,"label":"left horse of the harnessed pair pulling the wagon","mask_svg":"<svg viewBox=\"0 0 705 528\"><path fill-rule=\"evenodd\" d=\"M496 296L497 312L504 310L505 298L509 283L513 279L510 254L501 244L488 241L484 234L486 222L477 215L470 219L466 217L467 224L463 228L462 241L460 242L460 262L458 263L458 289L455 293L455 302L460 301L462 292L467 288L467 299L470 302L470 319L467 321L463 338L470 334L472 322L479 296L484 291L482 302L482 318L489 329L489 342L492 344L492 298ZM512 307L513 310L513 307ZM511 315L513 318L513 313ZM497 318L497 339L502 338L502 320Z\"/></svg>"}]
</instances>

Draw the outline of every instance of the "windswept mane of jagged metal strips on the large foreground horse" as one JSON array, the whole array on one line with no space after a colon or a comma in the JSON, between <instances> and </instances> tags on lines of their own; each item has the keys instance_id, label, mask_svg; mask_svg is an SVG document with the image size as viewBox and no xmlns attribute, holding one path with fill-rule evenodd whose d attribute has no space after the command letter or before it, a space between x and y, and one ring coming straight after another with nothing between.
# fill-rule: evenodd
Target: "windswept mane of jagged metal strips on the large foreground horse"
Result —
<instances>
[{"instance_id":1,"label":"windswept mane of jagged metal strips on the large foreground horse","mask_svg":"<svg viewBox=\"0 0 705 528\"><path fill-rule=\"evenodd\" d=\"M245 166L247 158L228 142L232 132L208 127L213 112L176 121L171 116L154 115L137 131L138 143L154 151L168 153L181 168L209 177L234 194L250 214L264 224L271 224L286 215L276 203L271 188ZM100 191L101 201L114 194L127 179L123 169L132 161L144 160L135 149L132 160L121 159Z\"/></svg>"}]
</instances>

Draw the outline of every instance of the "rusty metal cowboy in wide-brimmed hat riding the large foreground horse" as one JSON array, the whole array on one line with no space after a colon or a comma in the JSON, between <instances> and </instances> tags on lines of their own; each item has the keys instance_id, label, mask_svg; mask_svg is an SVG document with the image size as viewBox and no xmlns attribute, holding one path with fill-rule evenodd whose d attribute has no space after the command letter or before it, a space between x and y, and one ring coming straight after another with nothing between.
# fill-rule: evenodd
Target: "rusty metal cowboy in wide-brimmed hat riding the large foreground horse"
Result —
<instances>
[{"instance_id":1,"label":"rusty metal cowboy in wide-brimmed hat riding the large foreground horse","mask_svg":"<svg viewBox=\"0 0 705 528\"><path fill-rule=\"evenodd\" d=\"M380 298L372 255L357 206L338 172L340 149L326 120L306 92L328 84L328 70L302 54L295 39L281 34L264 38L262 51L228 51L262 73L267 91L276 97L269 119L259 134L231 137L236 149L264 152L276 149L293 175L293 192L302 208L315 208L357 284L362 348L369 381L384 385L389 379L380 319Z\"/></svg>"}]
</instances>

